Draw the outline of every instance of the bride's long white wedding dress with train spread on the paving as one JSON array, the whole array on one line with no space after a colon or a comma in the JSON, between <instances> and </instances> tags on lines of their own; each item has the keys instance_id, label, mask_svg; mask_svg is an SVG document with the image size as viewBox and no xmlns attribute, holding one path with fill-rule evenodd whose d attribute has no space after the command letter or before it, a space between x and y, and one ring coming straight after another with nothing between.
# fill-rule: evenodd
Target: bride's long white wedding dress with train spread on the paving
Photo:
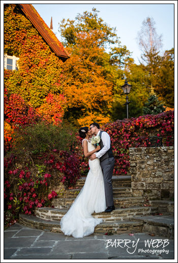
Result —
<instances>
[{"instance_id":1,"label":"bride's long white wedding dress with train spread on the paving","mask_svg":"<svg viewBox=\"0 0 178 263\"><path fill-rule=\"evenodd\" d=\"M84 139L86 140L86 139ZM83 140L83 141L84 141ZM83 145L82 141L82 145ZM88 141L87 141L88 142ZM88 142L88 152L95 146ZM94 211L100 213L106 209L103 173L98 158L89 160L90 171L85 184L67 214L61 219L61 230L67 236L82 238L94 233L95 226L102 223L102 218L94 218Z\"/></svg>"}]
</instances>

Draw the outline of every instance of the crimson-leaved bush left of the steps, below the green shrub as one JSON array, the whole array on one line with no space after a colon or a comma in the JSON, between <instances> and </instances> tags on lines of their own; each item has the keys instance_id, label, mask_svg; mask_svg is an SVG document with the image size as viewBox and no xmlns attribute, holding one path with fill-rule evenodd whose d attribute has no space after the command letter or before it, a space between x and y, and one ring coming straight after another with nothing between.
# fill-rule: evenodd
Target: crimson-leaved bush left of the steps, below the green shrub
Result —
<instances>
[{"instance_id":1,"label":"crimson-leaved bush left of the steps, below the green shrub","mask_svg":"<svg viewBox=\"0 0 178 263\"><path fill-rule=\"evenodd\" d=\"M49 186L60 182L70 186L79 178L79 161L75 154L54 149L32 157L11 154L4 159L5 208L15 216L33 214L35 207L51 206L50 201L57 193Z\"/></svg>"}]
</instances>

